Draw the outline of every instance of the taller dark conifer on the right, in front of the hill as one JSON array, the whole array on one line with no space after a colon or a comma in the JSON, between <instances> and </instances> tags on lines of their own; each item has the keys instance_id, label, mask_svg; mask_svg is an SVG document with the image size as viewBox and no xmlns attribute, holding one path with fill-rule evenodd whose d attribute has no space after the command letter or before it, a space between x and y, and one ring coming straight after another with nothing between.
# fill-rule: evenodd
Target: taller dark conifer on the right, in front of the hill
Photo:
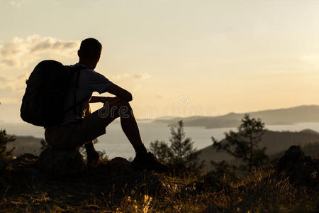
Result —
<instances>
[{"instance_id":1,"label":"taller dark conifer on the right, in front of the hill","mask_svg":"<svg viewBox=\"0 0 319 213\"><path fill-rule=\"evenodd\" d=\"M252 170L258 168L269 160L266 155L266 147L258 148L258 143L264 134L264 123L261 119L251 119L249 114L242 118L238 132L225 133L225 141L213 140L213 148L216 151L225 151L242 161L240 170Z\"/></svg>"}]
</instances>

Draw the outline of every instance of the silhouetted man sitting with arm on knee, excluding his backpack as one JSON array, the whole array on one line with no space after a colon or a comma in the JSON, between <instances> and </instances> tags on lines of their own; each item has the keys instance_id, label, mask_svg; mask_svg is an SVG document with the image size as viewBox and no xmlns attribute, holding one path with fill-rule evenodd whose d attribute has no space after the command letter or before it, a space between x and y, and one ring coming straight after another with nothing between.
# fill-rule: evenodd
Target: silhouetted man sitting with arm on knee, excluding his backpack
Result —
<instances>
[{"instance_id":1,"label":"silhouetted man sitting with arm on knee, excluding his backpack","mask_svg":"<svg viewBox=\"0 0 319 213\"><path fill-rule=\"evenodd\" d=\"M114 119L121 117L121 127L135 149L133 164L147 170L166 171L167 166L159 163L152 153L147 153L142 143L138 124L129 104L132 94L94 71L101 50L101 43L94 38L82 41L77 52L79 62L72 65L80 69L79 76L75 74L73 77L78 86L69 91L65 109L74 104L74 99L87 99L74 107L74 110L68 111L61 125L45 129L47 143L56 148L76 148L85 144L87 162L89 165L94 164L100 157L94 148L93 140L106 133L106 126ZM116 97L92 97L92 92L109 92ZM102 102L104 106L91 113L89 103L95 102Z\"/></svg>"}]
</instances>

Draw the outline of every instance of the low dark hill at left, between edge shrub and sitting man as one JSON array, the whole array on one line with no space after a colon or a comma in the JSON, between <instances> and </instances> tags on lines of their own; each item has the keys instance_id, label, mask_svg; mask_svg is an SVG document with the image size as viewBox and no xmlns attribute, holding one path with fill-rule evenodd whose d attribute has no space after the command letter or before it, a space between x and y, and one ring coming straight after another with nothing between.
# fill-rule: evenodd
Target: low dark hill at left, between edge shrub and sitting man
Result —
<instances>
[{"instance_id":1,"label":"low dark hill at left, between edge shrub and sitting man","mask_svg":"<svg viewBox=\"0 0 319 213\"><path fill-rule=\"evenodd\" d=\"M32 153L34 155L40 155L41 138L35 138L33 136L16 136L16 141L7 144L7 148L15 148L13 155L18 156L24 153Z\"/></svg>"}]
</instances>

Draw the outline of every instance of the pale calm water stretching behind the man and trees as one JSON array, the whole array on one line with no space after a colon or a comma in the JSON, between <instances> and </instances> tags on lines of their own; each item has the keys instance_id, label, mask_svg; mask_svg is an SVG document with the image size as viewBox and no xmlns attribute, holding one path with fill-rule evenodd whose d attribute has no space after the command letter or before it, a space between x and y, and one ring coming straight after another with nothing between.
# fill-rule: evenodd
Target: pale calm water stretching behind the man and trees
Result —
<instances>
[{"instance_id":1,"label":"pale calm water stretching behind the man and trees","mask_svg":"<svg viewBox=\"0 0 319 213\"><path fill-rule=\"evenodd\" d=\"M170 128L167 124L159 124L152 121L138 121L140 134L143 143L149 148L150 143L155 140L166 141L169 143ZM301 131L303 129L312 129L319 132L319 123L301 123L292 125L267 125L267 129L272 131ZM15 134L16 136L35 136L44 138L44 129L38 126L33 126L26 123L0 123L0 129L6 129L7 133ZM210 146L213 142L213 136L217 140L224 138L224 133L236 128L218 128L205 129L204 127L184 127L186 137L191 137L194 141L194 147L197 149ZM99 143L96 143L96 149L106 151L109 158L121 156L130 158L135 155L133 147L125 137L121 130L121 124L116 121L106 127L106 134L98 138Z\"/></svg>"}]
</instances>

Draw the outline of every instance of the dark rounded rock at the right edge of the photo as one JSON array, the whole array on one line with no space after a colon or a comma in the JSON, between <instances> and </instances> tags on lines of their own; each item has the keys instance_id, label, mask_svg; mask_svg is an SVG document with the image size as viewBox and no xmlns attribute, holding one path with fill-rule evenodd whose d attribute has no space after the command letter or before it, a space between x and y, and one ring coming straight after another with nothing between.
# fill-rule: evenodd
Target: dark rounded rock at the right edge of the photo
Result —
<instances>
[{"instance_id":1,"label":"dark rounded rock at the right edge of the photo","mask_svg":"<svg viewBox=\"0 0 319 213\"><path fill-rule=\"evenodd\" d=\"M306 156L299 146L291 146L279 159L277 173L289 177L297 185L318 187L319 160Z\"/></svg>"}]
</instances>

